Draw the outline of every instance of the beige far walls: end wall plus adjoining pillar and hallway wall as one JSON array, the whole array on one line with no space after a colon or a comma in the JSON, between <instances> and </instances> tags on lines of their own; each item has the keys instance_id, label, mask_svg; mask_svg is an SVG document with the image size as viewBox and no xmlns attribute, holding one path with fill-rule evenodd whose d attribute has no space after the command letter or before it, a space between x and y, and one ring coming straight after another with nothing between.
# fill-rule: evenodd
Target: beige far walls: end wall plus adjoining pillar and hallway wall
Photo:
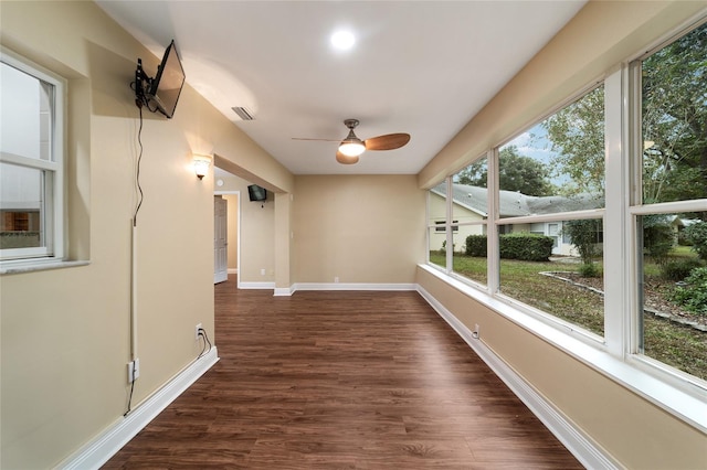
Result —
<instances>
[{"instance_id":1,"label":"beige far walls: end wall plus adjoining pillar and hallway wall","mask_svg":"<svg viewBox=\"0 0 707 470\"><path fill-rule=\"evenodd\" d=\"M218 191L242 197L241 282L405 284L424 260L425 192L414 175L298 175L292 196L271 192L265 204L247 200L250 181L222 180Z\"/></svg>"}]
</instances>

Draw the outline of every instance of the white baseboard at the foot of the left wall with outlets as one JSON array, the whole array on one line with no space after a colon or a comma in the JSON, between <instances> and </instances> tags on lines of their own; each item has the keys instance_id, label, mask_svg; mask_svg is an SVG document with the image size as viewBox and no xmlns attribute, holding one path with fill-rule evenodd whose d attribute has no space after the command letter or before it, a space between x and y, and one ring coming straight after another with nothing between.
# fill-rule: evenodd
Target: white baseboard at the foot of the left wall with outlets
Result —
<instances>
[{"instance_id":1,"label":"white baseboard at the foot of the left wall with outlets","mask_svg":"<svg viewBox=\"0 0 707 470\"><path fill-rule=\"evenodd\" d=\"M56 468L82 470L101 468L218 361L219 354L214 346L133 409L128 416L118 419Z\"/></svg>"}]
</instances>

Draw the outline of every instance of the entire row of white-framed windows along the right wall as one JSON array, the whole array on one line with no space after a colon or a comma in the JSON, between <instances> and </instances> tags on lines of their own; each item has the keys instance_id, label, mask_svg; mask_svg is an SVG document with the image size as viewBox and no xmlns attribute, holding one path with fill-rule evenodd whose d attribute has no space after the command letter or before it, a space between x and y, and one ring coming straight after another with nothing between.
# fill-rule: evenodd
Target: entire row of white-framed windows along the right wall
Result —
<instances>
[{"instance_id":1,"label":"entire row of white-framed windows along the right wall","mask_svg":"<svg viewBox=\"0 0 707 470\"><path fill-rule=\"evenodd\" d=\"M485 201L481 221L455 210L463 183ZM445 189L446 227L488 235L457 249L453 268L449 254L440 260L447 274L612 360L707 391L704 20L450 175ZM484 280L461 267L472 259Z\"/></svg>"}]
</instances>

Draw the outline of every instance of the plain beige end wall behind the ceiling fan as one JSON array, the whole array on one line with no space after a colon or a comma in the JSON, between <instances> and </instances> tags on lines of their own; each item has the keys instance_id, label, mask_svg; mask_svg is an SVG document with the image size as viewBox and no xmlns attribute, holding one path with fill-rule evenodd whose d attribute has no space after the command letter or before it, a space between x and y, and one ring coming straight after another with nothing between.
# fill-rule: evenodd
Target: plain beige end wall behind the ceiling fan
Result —
<instances>
[{"instance_id":1,"label":"plain beige end wall behind the ceiling fan","mask_svg":"<svg viewBox=\"0 0 707 470\"><path fill-rule=\"evenodd\" d=\"M295 186L297 282L414 282L425 249L414 175L298 175Z\"/></svg>"}]
</instances>

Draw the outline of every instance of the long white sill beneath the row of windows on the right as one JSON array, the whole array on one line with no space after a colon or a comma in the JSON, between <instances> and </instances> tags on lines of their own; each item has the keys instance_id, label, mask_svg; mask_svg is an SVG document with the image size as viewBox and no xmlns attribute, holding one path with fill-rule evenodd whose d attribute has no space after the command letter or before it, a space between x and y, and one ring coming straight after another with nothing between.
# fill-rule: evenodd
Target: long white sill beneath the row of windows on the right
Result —
<instances>
[{"instance_id":1,"label":"long white sill beneath the row of windows on the right","mask_svg":"<svg viewBox=\"0 0 707 470\"><path fill-rule=\"evenodd\" d=\"M544 339L566 354L621 384L673 416L707 434L707 392L687 381L679 385L668 383L658 374L647 372L640 361L630 356L615 357L602 345L581 341L556 325L536 319L502 300L469 285L461 282L428 265L418 265L424 271L444 281L465 296L507 318L524 330Z\"/></svg>"}]
</instances>

